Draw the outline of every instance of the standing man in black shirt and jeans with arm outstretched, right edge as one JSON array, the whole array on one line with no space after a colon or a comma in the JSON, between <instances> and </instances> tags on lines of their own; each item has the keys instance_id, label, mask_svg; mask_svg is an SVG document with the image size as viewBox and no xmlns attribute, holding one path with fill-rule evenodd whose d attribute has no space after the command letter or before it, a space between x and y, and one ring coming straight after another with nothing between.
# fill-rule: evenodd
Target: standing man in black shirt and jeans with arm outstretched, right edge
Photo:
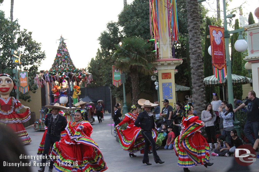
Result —
<instances>
[{"instance_id":1,"label":"standing man in black shirt and jeans with arm outstretched, right edge","mask_svg":"<svg viewBox=\"0 0 259 172\"><path fill-rule=\"evenodd\" d=\"M253 90L248 93L248 100L242 103L236 109L233 109L234 112L237 110L247 106L247 120L244 125L244 135L247 140L254 144L255 140L251 134L251 131L254 133L255 139L258 138L258 130L259 130L259 98L256 97L255 92Z\"/></svg>"}]
</instances>

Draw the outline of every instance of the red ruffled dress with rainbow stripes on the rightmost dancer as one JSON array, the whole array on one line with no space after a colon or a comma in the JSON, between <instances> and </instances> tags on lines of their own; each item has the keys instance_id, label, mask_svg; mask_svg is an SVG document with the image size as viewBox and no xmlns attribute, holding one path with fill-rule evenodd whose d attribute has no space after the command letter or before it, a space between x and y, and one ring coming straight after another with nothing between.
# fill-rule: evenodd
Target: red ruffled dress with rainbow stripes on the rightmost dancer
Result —
<instances>
[{"instance_id":1,"label":"red ruffled dress with rainbow stripes on the rightmost dancer","mask_svg":"<svg viewBox=\"0 0 259 172\"><path fill-rule=\"evenodd\" d=\"M200 134L203 125L198 118L190 114L182 119L181 133L174 142L174 150L180 167L204 165L210 161L209 145Z\"/></svg>"}]
</instances>

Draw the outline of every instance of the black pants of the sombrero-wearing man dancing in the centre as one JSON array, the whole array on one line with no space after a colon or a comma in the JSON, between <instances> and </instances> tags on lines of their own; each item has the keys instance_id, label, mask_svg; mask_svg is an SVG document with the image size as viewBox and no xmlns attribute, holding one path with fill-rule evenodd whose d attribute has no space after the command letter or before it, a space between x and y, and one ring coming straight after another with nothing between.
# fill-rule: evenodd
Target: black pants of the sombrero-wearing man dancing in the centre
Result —
<instances>
[{"instance_id":1,"label":"black pants of the sombrero-wearing man dancing in the centre","mask_svg":"<svg viewBox=\"0 0 259 172\"><path fill-rule=\"evenodd\" d=\"M151 131L143 131L141 130L141 134L145 139L145 148L144 148L144 157L143 157L143 162L149 162L148 158L148 151L149 151L149 146L151 145L151 149L153 152L154 160L155 162L159 161L160 158L156 153L156 142L152 137L152 132Z\"/></svg>"}]
</instances>

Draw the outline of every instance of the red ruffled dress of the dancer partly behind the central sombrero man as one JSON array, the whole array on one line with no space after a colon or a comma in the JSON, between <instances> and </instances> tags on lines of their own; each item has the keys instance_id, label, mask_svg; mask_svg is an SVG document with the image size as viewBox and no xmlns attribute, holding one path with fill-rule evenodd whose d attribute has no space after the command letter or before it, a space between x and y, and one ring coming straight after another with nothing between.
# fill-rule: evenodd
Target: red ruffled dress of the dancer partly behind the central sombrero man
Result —
<instances>
[{"instance_id":1,"label":"red ruffled dress of the dancer partly behind the central sombrero man","mask_svg":"<svg viewBox=\"0 0 259 172\"><path fill-rule=\"evenodd\" d=\"M138 113L126 113L123 121L121 121L118 125L121 126L128 123L127 129L122 130L120 128L116 129L118 134L119 142L121 147L124 150L127 150L130 153L135 153L141 151L144 153L143 149L145 147L144 137L141 134L141 128L136 127L134 122L138 117ZM156 131L152 129L152 136L156 140Z\"/></svg>"}]
</instances>

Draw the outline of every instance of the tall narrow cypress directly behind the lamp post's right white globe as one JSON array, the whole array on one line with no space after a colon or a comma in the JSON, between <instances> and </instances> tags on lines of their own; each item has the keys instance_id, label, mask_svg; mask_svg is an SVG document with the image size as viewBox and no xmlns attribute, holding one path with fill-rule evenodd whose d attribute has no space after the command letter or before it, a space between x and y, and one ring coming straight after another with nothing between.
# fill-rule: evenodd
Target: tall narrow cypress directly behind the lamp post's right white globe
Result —
<instances>
[{"instance_id":1,"label":"tall narrow cypress directly behind the lamp post's right white globe","mask_svg":"<svg viewBox=\"0 0 259 172\"><path fill-rule=\"evenodd\" d=\"M239 21L238 19L235 20L235 29L239 29ZM236 42L238 40L238 33L233 34L233 42ZM234 51L234 57L233 57L233 66L232 66L232 73L236 75L242 75L242 53ZM233 94L234 98L241 100L243 95L243 89L242 85L234 85L233 86Z\"/></svg>"}]
</instances>

